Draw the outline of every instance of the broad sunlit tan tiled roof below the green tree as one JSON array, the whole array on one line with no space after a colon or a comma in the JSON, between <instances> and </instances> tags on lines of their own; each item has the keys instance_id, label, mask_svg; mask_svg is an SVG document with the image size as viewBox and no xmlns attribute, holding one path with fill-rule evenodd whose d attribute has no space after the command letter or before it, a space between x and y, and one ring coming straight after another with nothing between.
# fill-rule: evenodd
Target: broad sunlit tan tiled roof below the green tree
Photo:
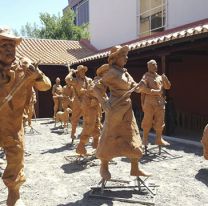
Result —
<instances>
[{"instance_id":1,"label":"broad sunlit tan tiled roof below the green tree","mask_svg":"<svg viewBox=\"0 0 208 206\"><path fill-rule=\"evenodd\" d=\"M67 64L94 54L81 41L23 39L17 47L17 56L26 56L40 64Z\"/></svg>"}]
</instances>

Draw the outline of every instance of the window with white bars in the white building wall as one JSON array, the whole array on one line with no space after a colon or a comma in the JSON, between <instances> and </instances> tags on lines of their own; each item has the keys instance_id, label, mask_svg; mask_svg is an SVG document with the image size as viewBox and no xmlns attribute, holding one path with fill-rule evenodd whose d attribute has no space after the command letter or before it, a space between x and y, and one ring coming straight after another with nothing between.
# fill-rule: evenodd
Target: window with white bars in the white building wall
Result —
<instances>
[{"instance_id":1,"label":"window with white bars in the white building wall","mask_svg":"<svg viewBox=\"0 0 208 206\"><path fill-rule=\"evenodd\" d=\"M166 4L166 0L140 0L140 37L164 30Z\"/></svg>"}]
</instances>

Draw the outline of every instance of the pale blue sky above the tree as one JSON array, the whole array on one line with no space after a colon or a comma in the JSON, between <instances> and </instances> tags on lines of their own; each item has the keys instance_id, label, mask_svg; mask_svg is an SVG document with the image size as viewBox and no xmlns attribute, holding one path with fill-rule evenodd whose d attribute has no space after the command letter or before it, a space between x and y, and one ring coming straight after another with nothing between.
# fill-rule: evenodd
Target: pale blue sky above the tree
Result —
<instances>
[{"instance_id":1,"label":"pale blue sky above the tree","mask_svg":"<svg viewBox=\"0 0 208 206\"><path fill-rule=\"evenodd\" d=\"M41 25L40 13L62 15L67 5L68 0L0 0L0 27L19 31L27 22Z\"/></svg>"}]
</instances>

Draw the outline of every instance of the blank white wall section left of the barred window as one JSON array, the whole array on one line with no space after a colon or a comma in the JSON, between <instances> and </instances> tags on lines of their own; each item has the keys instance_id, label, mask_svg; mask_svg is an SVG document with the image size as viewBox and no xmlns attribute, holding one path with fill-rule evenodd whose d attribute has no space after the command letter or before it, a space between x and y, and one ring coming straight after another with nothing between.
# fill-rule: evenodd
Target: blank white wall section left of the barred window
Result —
<instances>
[{"instance_id":1,"label":"blank white wall section left of the barred window","mask_svg":"<svg viewBox=\"0 0 208 206\"><path fill-rule=\"evenodd\" d=\"M108 48L137 38L137 0L89 0L91 44Z\"/></svg>"}]
</instances>

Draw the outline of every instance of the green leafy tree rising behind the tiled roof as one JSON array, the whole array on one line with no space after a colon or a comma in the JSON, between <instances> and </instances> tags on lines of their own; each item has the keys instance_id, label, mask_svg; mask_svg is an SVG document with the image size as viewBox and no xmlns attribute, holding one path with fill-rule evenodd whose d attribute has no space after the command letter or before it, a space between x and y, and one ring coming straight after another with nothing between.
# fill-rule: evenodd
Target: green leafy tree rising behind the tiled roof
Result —
<instances>
[{"instance_id":1,"label":"green leafy tree rising behind the tiled roof","mask_svg":"<svg viewBox=\"0 0 208 206\"><path fill-rule=\"evenodd\" d=\"M21 28L21 35L42 39L80 40L89 38L88 25L76 26L75 15L71 9L65 10L63 16L40 13L41 27L27 23Z\"/></svg>"}]
</instances>

